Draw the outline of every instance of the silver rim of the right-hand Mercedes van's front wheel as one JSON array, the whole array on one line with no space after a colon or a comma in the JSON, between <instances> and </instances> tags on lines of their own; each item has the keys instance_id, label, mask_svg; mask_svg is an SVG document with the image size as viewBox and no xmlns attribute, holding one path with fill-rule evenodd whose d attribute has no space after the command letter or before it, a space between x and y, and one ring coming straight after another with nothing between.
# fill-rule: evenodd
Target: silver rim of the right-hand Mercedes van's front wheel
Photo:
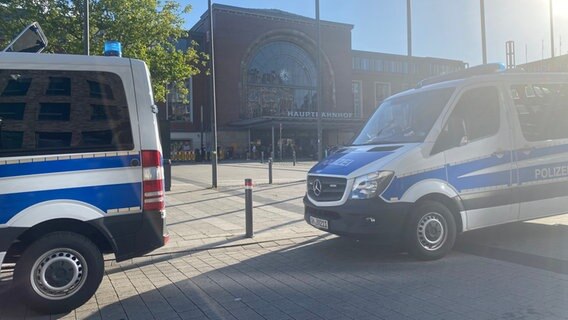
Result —
<instances>
[{"instance_id":1,"label":"silver rim of the right-hand Mercedes van's front wheel","mask_svg":"<svg viewBox=\"0 0 568 320\"><path fill-rule=\"evenodd\" d=\"M440 249L448 237L446 219L439 213L425 214L418 222L416 233L422 248L428 251Z\"/></svg>"}]
</instances>

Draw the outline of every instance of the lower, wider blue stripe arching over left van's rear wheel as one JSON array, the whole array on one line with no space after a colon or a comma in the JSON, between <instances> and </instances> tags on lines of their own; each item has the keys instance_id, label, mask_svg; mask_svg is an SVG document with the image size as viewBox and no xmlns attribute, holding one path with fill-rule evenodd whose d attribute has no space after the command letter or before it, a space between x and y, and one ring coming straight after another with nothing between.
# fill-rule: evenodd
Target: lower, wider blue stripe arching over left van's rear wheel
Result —
<instances>
[{"instance_id":1,"label":"lower, wider blue stripe arching over left van's rear wheel","mask_svg":"<svg viewBox=\"0 0 568 320\"><path fill-rule=\"evenodd\" d=\"M106 212L109 209L140 207L141 194L141 183L2 194L0 224L8 222L22 210L45 201L81 201Z\"/></svg>"}]
</instances>

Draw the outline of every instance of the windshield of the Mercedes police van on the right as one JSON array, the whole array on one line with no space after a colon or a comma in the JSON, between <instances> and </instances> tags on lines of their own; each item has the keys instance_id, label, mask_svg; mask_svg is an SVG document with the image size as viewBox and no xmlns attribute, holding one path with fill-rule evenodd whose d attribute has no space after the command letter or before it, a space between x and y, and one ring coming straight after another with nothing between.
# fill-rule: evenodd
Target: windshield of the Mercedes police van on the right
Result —
<instances>
[{"instance_id":1,"label":"windshield of the Mercedes police van on the right","mask_svg":"<svg viewBox=\"0 0 568 320\"><path fill-rule=\"evenodd\" d=\"M424 142L454 89L428 90L385 100L353 145Z\"/></svg>"}]
</instances>

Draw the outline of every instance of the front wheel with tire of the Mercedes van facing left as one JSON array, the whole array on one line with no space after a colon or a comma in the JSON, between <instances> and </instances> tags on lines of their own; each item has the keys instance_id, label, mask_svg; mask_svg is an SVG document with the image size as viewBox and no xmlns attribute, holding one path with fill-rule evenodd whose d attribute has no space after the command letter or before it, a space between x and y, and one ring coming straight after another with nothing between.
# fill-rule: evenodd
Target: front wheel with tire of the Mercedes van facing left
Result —
<instances>
[{"instance_id":1,"label":"front wheel with tire of the Mercedes van facing left","mask_svg":"<svg viewBox=\"0 0 568 320\"><path fill-rule=\"evenodd\" d=\"M455 219L446 206L427 200L414 208L406 230L406 245L412 256L440 259L450 252L455 240Z\"/></svg>"}]
</instances>

